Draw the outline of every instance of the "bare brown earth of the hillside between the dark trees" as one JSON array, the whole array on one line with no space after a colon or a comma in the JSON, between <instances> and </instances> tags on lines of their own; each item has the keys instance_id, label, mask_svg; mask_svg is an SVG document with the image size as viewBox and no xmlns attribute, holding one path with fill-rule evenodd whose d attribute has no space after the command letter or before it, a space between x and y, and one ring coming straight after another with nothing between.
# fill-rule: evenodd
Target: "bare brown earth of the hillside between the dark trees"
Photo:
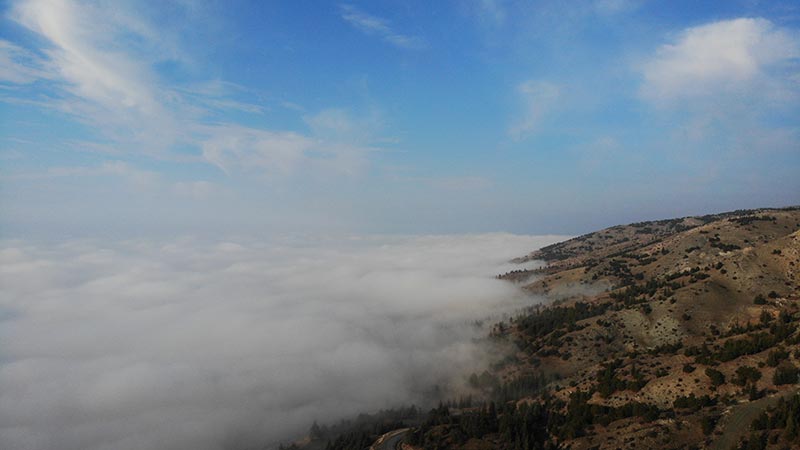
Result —
<instances>
[{"instance_id":1,"label":"bare brown earth of the hillside between the dark trees","mask_svg":"<svg viewBox=\"0 0 800 450\"><path fill-rule=\"evenodd\" d=\"M704 415L727 417L749 403L745 386L731 382L742 366L754 367L761 374L758 381L747 384L767 395L758 402L768 404L770 397L796 389L795 384L773 383L776 369L767 364L773 347L728 361L700 362L686 355L685 349L705 345L712 353L719 352L727 340L766 332L769 325L762 316L777 320L783 311L792 323L800 319L798 208L615 226L544 247L516 261L531 260L546 264L501 278L544 294L561 307L578 302L614 307L576 321L572 331L559 333L555 340L552 335L531 338L518 324L511 324L507 337L523 350L516 355L520 364L500 371L505 379L534 370L531 367L548 367L561 376L549 387L551 393L566 401L576 390L596 386L604 363L620 359L618 377L633 380L635 367L644 385L607 397L596 393L591 402L618 406L635 401L674 410L679 396L709 395L720 400L713 408L678 414L674 419L653 423L625 419L608 427L593 426L587 436L565 442L571 448L713 446L718 436L705 436L701 419ZM645 289L648 283L654 288ZM636 294L636 288L642 292ZM623 301L630 292L634 294ZM764 300L756 302L757 296ZM800 345L795 341L800 339L789 338L777 345L789 354L785 363L798 365ZM670 344L680 349L659 351ZM530 352L531 348L535 351ZM687 365L691 372L684 371ZM709 367L724 374L727 382L713 386L705 374Z\"/></svg>"}]
</instances>

